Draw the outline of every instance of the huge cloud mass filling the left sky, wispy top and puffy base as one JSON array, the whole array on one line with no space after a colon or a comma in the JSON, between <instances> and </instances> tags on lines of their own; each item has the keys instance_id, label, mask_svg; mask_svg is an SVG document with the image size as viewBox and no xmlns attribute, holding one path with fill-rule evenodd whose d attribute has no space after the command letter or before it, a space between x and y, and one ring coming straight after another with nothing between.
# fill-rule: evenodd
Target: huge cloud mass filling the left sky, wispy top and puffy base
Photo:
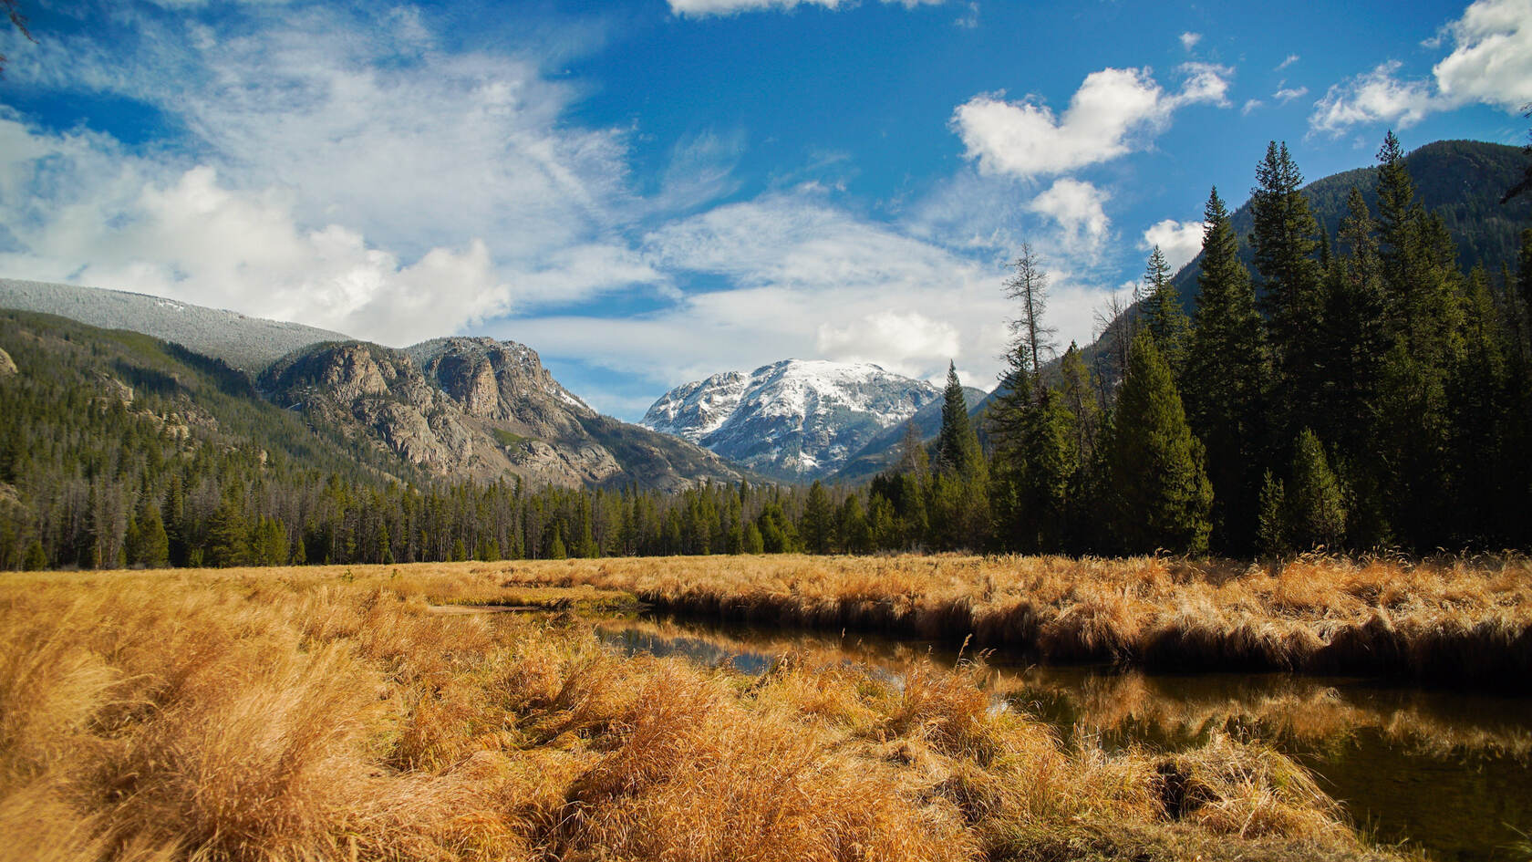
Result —
<instances>
[{"instance_id":1,"label":"huge cloud mass filling the left sky, wispy top and puffy base","mask_svg":"<svg viewBox=\"0 0 1532 862\"><path fill-rule=\"evenodd\" d=\"M14 72L149 103L190 135L133 155L0 114L0 235L18 244L8 275L388 344L665 288L622 239L651 206L627 189L624 133L568 123L578 94L544 78L545 58L440 54L411 11L251 8L224 31L139 15L118 20L135 38L64 37L47 49L67 61ZM677 158L691 184L660 201L725 190L728 146L691 141Z\"/></svg>"}]
</instances>

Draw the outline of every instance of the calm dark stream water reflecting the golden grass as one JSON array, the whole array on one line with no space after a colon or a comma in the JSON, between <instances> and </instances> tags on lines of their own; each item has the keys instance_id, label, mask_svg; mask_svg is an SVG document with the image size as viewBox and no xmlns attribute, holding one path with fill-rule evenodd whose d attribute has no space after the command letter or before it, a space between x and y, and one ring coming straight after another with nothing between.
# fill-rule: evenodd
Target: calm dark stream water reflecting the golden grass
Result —
<instances>
[{"instance_id":1,"label":"calm dark stream water reflecting the golden grass","mask_svg":"<svg viewBox=\"0 0 1532 862\"><path fill-rule=\"evenodd\" d=\"M919 656L954 664L924 641L832 638L666 618L597 624L628 653L683 655L764 672L789 650L899 675ZM1177 750L1213 733L1259 738L1319 775L1380 842L1409 841L1435 859L1524 860L1532 833L1532 699L1422 690L1288 673L1120 673L1031 667L988 655L991 690L1016 709L1091 733L1106 747ZM1520 831L1518 831L1520 830Z\"/></svg>"}]
</instances>

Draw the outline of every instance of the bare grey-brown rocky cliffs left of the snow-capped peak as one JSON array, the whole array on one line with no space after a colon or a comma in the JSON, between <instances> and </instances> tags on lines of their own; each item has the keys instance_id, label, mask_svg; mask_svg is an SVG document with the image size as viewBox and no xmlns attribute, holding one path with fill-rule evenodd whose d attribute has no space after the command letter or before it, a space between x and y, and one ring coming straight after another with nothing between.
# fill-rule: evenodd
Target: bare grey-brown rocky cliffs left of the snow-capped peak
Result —
<instances>
[{"instance_id":1,"label":"bare grey-brown rocky cliffs left of the snow-capped peak","mask_svg":"<svg viewBox=\"0 0 1532 862\"><path fill-rule=\"evenodd\" d=\"M406 350L328 342L273 364L260 388L311 423L430 475L665 489L738 479L697 446L599 416L516 342L447 337Z\"/></svg>"}]
</instances>

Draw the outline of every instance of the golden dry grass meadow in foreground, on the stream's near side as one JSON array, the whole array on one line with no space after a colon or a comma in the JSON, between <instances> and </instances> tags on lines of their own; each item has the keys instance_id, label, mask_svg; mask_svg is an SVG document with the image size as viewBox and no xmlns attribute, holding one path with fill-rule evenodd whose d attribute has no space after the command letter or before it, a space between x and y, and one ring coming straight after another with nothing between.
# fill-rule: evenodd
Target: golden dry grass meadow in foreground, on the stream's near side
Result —
<instances>
[{"instance_id":1,"label":"golden dry grass meadow in foreground, on the stream's near side","mask_svg":"<svg viewBox=\"0 0 1532 862\"><path fill-rule=\"evenodd\" d=\"M507 601L509 568L0 578L0 859L1400 857L1268 747L1108 753L979 667L752 678L432 612Z\"/></svg>"}]
</instances>

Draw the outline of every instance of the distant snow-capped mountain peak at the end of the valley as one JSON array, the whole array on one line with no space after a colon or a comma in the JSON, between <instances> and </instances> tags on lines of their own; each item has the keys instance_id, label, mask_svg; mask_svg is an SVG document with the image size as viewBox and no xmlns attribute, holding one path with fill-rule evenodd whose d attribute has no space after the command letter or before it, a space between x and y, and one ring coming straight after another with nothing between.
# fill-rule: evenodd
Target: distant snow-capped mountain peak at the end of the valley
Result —
<instances>
[{"instance_id":1,"label":"distant snow-capped mountain peak at the end of the valley","mask_svg":"<svg viewBox=\"0 0 1532 862\"><path fill-rule=\"evenodd\" d=\"M941 391L876 365L784 359L665 393L639 422L786 480L823 479Z\"/></svg>"}]
</instances>

